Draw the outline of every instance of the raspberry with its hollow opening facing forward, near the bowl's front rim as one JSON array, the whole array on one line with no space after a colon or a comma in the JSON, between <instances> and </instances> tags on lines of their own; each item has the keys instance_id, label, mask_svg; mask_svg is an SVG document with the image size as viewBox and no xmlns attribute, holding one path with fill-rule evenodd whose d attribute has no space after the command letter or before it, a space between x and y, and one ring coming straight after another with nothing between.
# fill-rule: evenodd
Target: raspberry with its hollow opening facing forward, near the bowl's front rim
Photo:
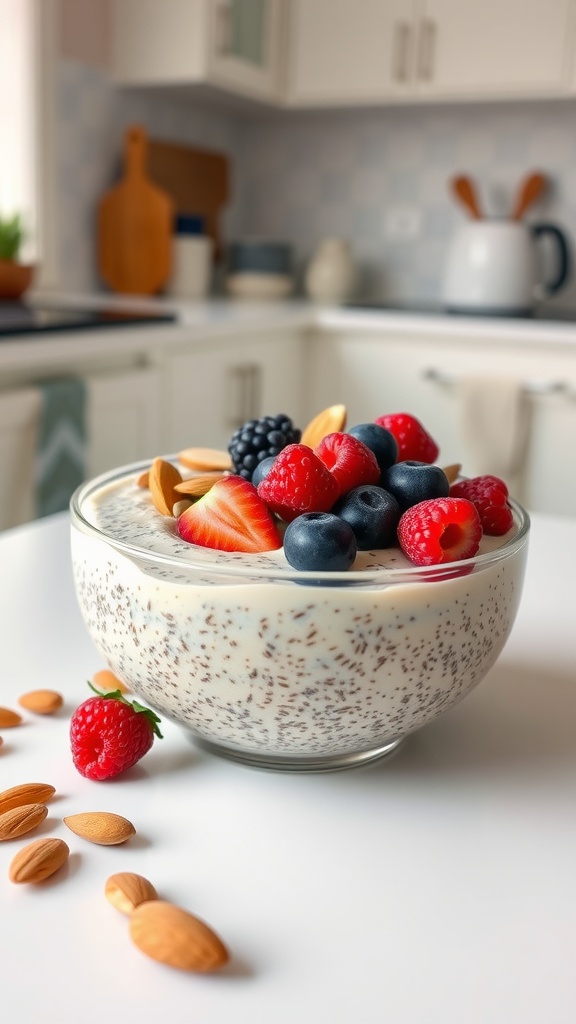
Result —
<instances>
[{"instance_id":1,"label":"raspberry with its hollow opening facing forward, near the bowl's front rim","mask_svg":"<svg viewBox=\"0 0 576 1024\"><path fill-rule=\"evenodd\" d=\"M440 565L476 555L482 523L465 498L433 498L413 505L398 525L400 547L415 565Z\"/></svg>"}]
</instances>

